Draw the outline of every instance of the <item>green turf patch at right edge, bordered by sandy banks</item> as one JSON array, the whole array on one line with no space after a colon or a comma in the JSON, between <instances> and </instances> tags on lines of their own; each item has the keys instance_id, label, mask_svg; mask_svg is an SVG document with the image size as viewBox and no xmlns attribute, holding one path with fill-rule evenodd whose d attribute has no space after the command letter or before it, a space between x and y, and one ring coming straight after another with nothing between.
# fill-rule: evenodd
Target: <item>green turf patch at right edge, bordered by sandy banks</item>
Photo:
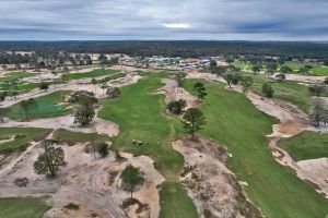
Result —
<instances>
[{"instance_id":1,"label":"green turf patch at right edge, bordered by sandy banks","mask_svg":"<svg viewBox=\"0 0 328 218\"><path fill-rule=\"evenodd\" d=\"M294 137L282 138L278 145L298 160L328 157L328 134L305 131Z\"/></svg>"}]
</instances>

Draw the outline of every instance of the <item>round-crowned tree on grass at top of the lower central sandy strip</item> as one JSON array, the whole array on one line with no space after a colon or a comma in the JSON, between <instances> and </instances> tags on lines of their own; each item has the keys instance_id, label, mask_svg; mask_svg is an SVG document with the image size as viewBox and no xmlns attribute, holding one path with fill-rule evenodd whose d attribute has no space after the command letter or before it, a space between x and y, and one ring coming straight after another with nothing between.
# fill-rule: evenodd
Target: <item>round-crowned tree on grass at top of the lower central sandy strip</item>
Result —
<instances>
[{"instance_id":1,"label":"round-crowned tree on grass at top of the lower central sandy strip","mask_svg":"<svg viewBox=\"0 0 328 218\"><path fill-rule=\"evenodd\" d=\"M206 124L203 113L198 108L188 109L181 122L186 133L190 134L192 140L195 138L195 133Z\"/></svg>"}]
</instances>

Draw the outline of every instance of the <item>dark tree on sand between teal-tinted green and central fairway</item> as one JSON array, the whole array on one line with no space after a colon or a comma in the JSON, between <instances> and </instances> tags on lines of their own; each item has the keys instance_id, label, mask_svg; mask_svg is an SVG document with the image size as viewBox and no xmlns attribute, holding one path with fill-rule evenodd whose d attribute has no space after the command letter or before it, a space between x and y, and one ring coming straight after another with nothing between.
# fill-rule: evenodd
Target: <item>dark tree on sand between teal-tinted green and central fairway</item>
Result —
<instances>
[{"instance_id":1,"label":"dark tree on sand between teal-tinted green and central fairway","mask_svg":"<svg viewBox=\"0 0 328 218\"><path fill-rule=\"evenodd\" d=\"M89 97L81 97L79 105L74 107L73 114L75 117L74 123L79 123L83 128L89 125L95 116L93 101Z\"/></svg>"}]
</instances>

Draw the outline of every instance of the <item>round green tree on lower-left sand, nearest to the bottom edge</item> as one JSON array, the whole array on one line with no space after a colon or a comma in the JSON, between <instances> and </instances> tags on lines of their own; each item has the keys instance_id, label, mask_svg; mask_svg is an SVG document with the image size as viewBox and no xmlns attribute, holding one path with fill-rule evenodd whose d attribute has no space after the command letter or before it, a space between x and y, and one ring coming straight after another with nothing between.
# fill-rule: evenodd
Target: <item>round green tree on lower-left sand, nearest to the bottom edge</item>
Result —
<instances>
[{"instance_id":1,"label":"round green tree on lower-left sand, nearest to the bottom edge","mask_svg":"<svg viewBox=\"0 0 328 218\"><path fill-rule=\"evenodd\" d=\"M122 189L131 193L131 198L136 187L144 183L143 173L132 165L126 167L120 174L120 179L122 181Z\"/></svg>"}]
</instances>

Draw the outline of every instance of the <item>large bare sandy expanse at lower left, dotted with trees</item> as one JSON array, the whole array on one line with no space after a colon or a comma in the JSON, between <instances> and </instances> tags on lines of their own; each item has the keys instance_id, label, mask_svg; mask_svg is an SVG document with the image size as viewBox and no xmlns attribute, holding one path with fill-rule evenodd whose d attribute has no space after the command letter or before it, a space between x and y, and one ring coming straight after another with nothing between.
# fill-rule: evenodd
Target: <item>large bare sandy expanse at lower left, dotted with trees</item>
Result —
<instances>
[{"instance_id":1,"label":"large bare sandy expanse at lower left, dotted with trees","mask_svg":"<svg viewBox=\"0 0 328 218\"><path fill-rule=\"evenodd\" d=\"M45 217L51 218L82 218L95 214L104 218L125 217L121 204L130 193L121 190L119 174L131 164L139 167L145 178L144 185L133 197L149 205L144 217L159 216L160 196L156 186L164 178L154 169L151 158L121 154L126 161L117 162L114 154L109 154L107 158L95 158L93 154L86 154L83 144L59 146L65 150L68 165L59 171L56 179L47 179L34 172L33 162L43 152L42 145L34 143L19 158L0 170L0 197L50 195L52 208ZM17 187L14 184L16 179L22 178L28 179L26 187ZM69 203L80 205L80 209L65 209L63 206ZM131 217L139 217L139 214Z\"/></svg>"}]
</instances>

